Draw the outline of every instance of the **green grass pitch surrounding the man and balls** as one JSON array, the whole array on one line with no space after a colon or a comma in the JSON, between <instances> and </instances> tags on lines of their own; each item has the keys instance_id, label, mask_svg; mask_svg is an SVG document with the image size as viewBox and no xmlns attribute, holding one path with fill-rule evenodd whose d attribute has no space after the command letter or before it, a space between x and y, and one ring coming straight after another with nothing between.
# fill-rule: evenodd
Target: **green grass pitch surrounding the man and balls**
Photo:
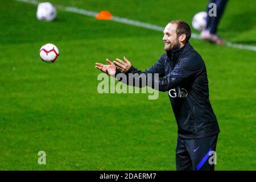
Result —
<instances>
[{"instance_id":1,"label":"green grass pitch surrounding the man and balls","mask_svg":"<svg viewBox=\"0 0 256 182\"><path fill-rule=\"evenodd\" d=\"M204 11L207 1L50 1L164 27ZM184 6L185 5L185 6ZM229 1L219 34L256 46L256 2ZM39 22L36 6L0 1L1 170L175 170L177 126L167 93L99 94L94 63L126 56L139 69L164 53L162 32L58 11ZM192 32L199 34L193 30ZM221 133L217 170L255 170L256 52L191 39L208 69ZM55 64L43 44L60 50ZM38 151L47 164L39 165Z\"/></svg>"}]
</instances>

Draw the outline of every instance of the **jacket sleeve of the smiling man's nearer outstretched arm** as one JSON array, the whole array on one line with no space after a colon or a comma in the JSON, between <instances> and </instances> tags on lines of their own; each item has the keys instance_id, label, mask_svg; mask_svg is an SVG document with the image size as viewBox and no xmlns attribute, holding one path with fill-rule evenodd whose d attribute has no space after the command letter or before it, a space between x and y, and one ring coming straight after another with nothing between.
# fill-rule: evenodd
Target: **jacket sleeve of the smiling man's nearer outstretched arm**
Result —
<instances>
[{"instance_id":1,"label":"jacket sleeve of the smiling man's nearer outstretched arm","mask_svg":"<svg viewBox=\"0 0 256 182\"><path fill-rule=\"evenodd\" d=\"M194 57L185 57L180 61L179 65L175 66L172 72L164 77L159 77L155 73L152 74L152 72L147 72L148 69L142 72L131 67L129 71L125 73L127 80L125 80L124 83L140 88L150 86L151 88L157 89L161 92L166 92L178 86L186 78L195 76L200 69L200 61Z\"/></svg>"}]
</instances>

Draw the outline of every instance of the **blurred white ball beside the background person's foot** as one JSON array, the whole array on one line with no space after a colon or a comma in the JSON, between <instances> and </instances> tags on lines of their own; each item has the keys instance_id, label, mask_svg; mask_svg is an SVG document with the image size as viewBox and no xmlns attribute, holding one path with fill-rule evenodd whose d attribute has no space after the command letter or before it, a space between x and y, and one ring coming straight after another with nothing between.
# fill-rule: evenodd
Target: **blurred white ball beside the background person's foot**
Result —
<instances>
[{"instance_id":1,"label":"blurred white ball beside the background person's foot","mask_svg":"<svg viewBox=\"0 0 256 182\"><path fill-rule=\"evenodd\" d=\"M192 20L192 26L196 30L202 31L207 27L207 12L201 11L197 13Z\"/></svg>"}]
</instances>

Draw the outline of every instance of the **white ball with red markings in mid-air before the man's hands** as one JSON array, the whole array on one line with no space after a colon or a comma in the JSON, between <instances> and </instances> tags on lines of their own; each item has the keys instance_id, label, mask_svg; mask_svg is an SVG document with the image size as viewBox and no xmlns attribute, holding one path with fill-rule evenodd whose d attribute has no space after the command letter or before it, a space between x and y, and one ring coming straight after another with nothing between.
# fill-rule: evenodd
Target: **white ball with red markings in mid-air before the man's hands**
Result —
<instances>
[{"instance_id":1,"label":"white ball with red markings in mid-air before the man's hands","mask_svg":"<svg viewBox=\"0 0 256 182\"><path fill-rule=\"evenodd\" d=\"M39 55L44 63L54 63L59 56L59 49L53 44L46 44L40 48Z\"/></svg>"}]
</instances>

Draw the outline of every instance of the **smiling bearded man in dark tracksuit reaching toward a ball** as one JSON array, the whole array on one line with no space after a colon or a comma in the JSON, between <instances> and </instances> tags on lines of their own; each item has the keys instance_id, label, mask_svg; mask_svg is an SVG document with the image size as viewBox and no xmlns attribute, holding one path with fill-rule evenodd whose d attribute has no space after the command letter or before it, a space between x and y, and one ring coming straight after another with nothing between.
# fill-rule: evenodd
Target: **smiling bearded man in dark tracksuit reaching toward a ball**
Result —
<instances>
[{"instance_id":1,"label":"smiling bearded man in dark tracksuit reaching toward a ball","mask_svg":"<svg viewBox=\"0 0 256 182\"><path fill-rule=\"evenodd\" d=\"M125 73L128 79L131 79L131 73L137 73L133 80L142 77L150 80L152 73L158 73L160 77L154 81L160 91L168 91L178 126L177 170L214 170L214 164L208 159L216 151L220 129L209 102L205 64L189 44L190 37L189 25L182 20L174 20L164 28L166 53L146 71L134 68L125 57L124 61L106 59L109 65L96 63L96 68L112 76ZM154 83L148 86L154 88Z\"/></svg>"}]
</instances>

